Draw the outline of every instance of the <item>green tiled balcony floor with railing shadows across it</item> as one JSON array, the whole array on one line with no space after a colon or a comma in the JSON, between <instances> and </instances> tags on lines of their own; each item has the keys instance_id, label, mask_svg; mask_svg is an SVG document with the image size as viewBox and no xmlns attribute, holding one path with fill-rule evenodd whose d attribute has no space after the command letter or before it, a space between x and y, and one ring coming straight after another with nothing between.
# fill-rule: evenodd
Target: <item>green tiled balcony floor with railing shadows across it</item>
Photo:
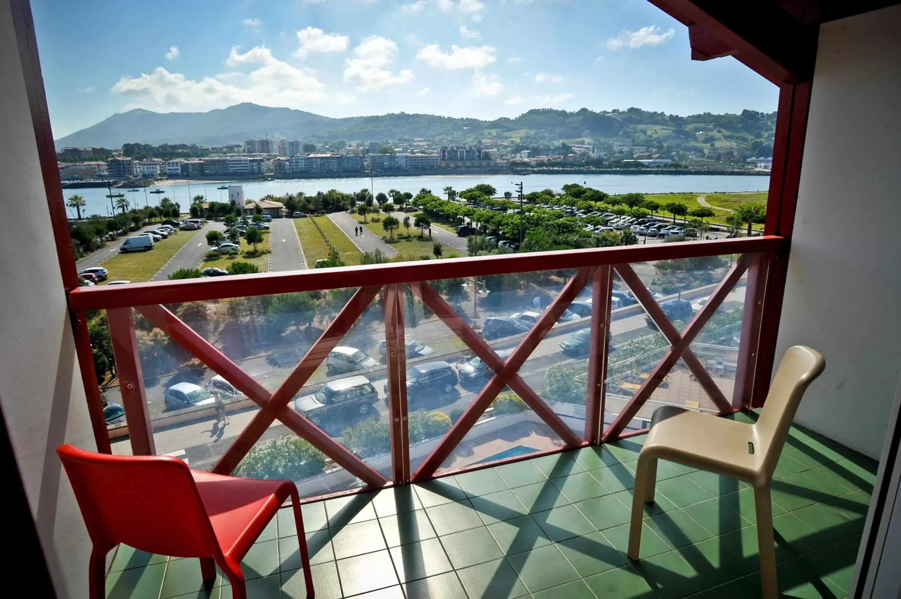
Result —
<instances>
[{"instance_id":1,"label":"green tiled balcony floor with railing shadows across it","mask_svg":"<svg viewBox=\"0 0 901 599\"><path fill-rule=\"evenodd\" d=\"M748 416L740 416L747 419ZM645 509L642 559L628 542L643 437L602 448L306 504L322 599L759 597L751 489L660 463ZM779 584L787 596L843 597L853 576L876 463L793 429L773 483ZM300 598L290 510L244 560L249 596ZM109 597L230 597L205 589L196 559L120 548Z\"/></svg>"}]
</instances>

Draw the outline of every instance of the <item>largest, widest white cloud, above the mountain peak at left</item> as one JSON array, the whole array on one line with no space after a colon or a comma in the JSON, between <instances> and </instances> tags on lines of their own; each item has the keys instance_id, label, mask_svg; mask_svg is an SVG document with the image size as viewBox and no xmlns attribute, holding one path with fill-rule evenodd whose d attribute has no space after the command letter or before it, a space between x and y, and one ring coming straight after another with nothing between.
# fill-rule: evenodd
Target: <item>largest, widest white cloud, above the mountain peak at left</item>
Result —
<instances>
[{"instance_id":1,"label":"largest, widest white cloud, above the mountain peak at left","mask_svg":"<svg viewBox=\"0 0 901 599\"><path fill-rule=\"evenodd\" d=\"M131 107L160 112L210 110L241 102L304 108L330 99L313 71L292 67L263 46L243 54L232 48L225 64L239 70L196 80L157 67L140 77L121 77L111 91L127 98ZM250 72L241 72L242 68Z\"/></svg>"}]
</instances>

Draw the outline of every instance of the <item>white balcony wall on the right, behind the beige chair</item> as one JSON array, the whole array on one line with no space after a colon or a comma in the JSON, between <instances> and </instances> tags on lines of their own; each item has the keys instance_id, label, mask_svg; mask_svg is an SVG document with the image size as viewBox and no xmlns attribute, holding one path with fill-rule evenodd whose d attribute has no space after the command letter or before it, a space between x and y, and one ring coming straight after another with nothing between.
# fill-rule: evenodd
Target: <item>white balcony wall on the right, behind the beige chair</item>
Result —
<instances>
[{"instance_id":1,"label":"white balcony wall on the right, behind the beige chair","mask_svg":"<svg viewBox=\"0 0 901 599\"><path fill-rule=\"evenodd\" d=\"M796 422L873 458L901 371L899 40L901 6L820 29L777 353L823 353Z\"/></svg>"}]
</instances>

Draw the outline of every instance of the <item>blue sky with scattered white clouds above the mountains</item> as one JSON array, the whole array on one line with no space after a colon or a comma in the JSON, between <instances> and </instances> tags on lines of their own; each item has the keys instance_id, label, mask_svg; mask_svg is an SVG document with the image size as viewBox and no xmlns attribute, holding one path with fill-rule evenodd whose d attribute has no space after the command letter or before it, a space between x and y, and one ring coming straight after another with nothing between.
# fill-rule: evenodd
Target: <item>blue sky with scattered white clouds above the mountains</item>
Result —
<instances>
[{"instance_id":1,"label":"blue sky with scattered white clouds above the mountains","mask_svg":"<svg viewBox=\"0 0 901 599\"><path fill-rule=\"evenodd\" d=\"M735 59L690 60L687 28L644 0L55 0L32 10L55 137L136 107L493 119L545 107L769 112L778 97Z\"/></svg>"}]
</instances>

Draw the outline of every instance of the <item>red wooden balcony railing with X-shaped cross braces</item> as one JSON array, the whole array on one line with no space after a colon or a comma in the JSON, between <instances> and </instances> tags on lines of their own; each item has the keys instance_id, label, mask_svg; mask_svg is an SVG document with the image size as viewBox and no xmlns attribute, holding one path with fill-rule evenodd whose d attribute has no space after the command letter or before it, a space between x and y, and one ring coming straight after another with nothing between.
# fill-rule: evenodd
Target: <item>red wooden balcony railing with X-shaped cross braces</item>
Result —
<instances>
[{"instance_id":1,"label":"red wooden balcony railing with X-shaped cross braces","mask_svg":"<svg viewBox=\"0 0 901 599\"><path fill-rule=\"evenodd\" d=\"M767 236L725 241L695 241L652 246L633 246L595 250L569 250L536 254L512 254L495 257L447 259L441 262L409 262L372 266L306 270L293 273L269 273L243 277L218 277L194 280L143 283L130 286L80 287L69 295L69 302L79 318L88 310L106 310L114 355L119 372L123 405L128 420L132 452L155 452L153 431L148 417L147 402L141 376L141 363L135 342L132 309L167 333L172 340L224 377L252 402L259 405L250 423L241 431L218 460L214 472L230 473L247 455L273 422L281 422L297 436L308 440L336 464L345 468L368 487L384 486L389 481L378 470L359 458L350 449L334 440L327 432L294 411L289 403L305 386L328 353L340 343L350 327L369 307L379 292L384 294L386 323L386 361L388 408L391 430L392 467L394 484L421 481L435 476L444 461L451 456L460 440L478 422L496 396L509 387L538 417L554 431L566 447L586 443L617 440L633 420L653 391L660 385L681 358L698 384L721 413L732 413L751 404L751 382L757 367L760 340L760 314L768 298L765 282L768 270L778 252L784 249L780 237ZM630 263L661 259L684 259L706 256L739 255L733 268L716 286L703 309L679 333L660 305L635 274ZM541 270L572 269L574 274L551 306L542 313L539 322L523 335L505 360L483 340L427 281L441 278L485 277ZM745 293L742 322L742 345L735 377L733 402L730 403L714 383L713 378L692 353L690 346L705 323L713 316L725 297L745 272L749 273ZM631 288L633 295L669 340L671 347L660 359L651 376L604 431L605 379L607 368L608 331L611 324L611 291L614 272ZM519 370L538 347L560 315L578 293L590 283L596 310L590 319L587 407L584 438L572 431L551 407L526 384ZM244 372L222 351L193 331L170 312L167 304L200 300L220 300L251 295L275 295L300 291L358 287L357 292L332 320L313 346L297 364L287 379L274 392L268 391ZM408 290L408 291L407 291ZM407 431L406 357L404 335L405 294L412 293L450 330L481 358L494 372L476 399L453 423L451 430L432 449L415 472L411 471L409 434ZM91 383L86 381L86 385ZM96 396L96 387L88 396ZM98 447L108 446L98 442ZM532 458L535 454L524 456ZM514 461L511 458L506 461Z\"/></svg>"}]
</instances>

